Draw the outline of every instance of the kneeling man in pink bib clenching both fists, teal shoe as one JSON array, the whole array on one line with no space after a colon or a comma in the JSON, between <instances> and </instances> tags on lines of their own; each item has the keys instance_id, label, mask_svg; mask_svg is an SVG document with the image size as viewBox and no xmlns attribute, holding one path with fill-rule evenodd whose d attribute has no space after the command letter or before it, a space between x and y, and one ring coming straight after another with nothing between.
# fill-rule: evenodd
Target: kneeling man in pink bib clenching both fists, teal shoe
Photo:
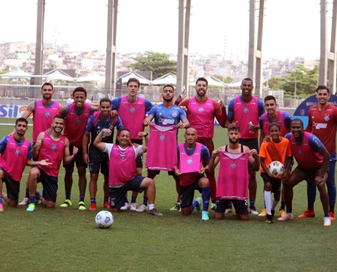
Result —
<instances>
[{"instance_id":1,"label":"kneeling man in pink bib clenching both fists, teal shoe","mask_svg":"<svg viewBox=\"0 0 337 272\"><path fill-rule=\"evenodd\" d=\"M30 204L26 211L32 212L35 209L35 191L37 183L43 185L42 197L40 198L45 208L54 208L57 197L58 175L63 163L71 162L78 152L77 147L73 147L72 154L69 152L69 140L61 133L64 127L64 117L55 115L52 122L52 132L48 135L46 132L41 132L34 145L32 154L38 159L48 160L51 165L37 165L29 171L28 188Z\"/></svg>"}]
</instances>

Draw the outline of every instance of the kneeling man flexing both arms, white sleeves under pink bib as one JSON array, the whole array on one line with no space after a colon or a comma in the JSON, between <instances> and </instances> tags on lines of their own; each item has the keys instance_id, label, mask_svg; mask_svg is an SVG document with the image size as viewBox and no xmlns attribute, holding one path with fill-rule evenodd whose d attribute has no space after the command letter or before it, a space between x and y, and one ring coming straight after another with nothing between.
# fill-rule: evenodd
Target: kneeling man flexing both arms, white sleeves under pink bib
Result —
<instances>
[{"instance_id":1,"label":"kneeling man flexing both arms, white sleeves under pink bib","mask_svg":"<svg viewBox=\"0 0 337 272\"><path fill-rule=\"evenodd\" d=\"M148 213L162 216L154 208L156 198L156 187L154 180L141 176L136 176L136 160L138 155L147 151L149 141L148 133L139 132L139 137L145 136L145 145L135 148L130 139L130 131L126 128L120 130L117 136L119 145L102 143L103 134L110 134L111 130L104 128L97 135L94 145L101 151L109 155L109 194L110 209L118 212L124 206L125 194L127 191L143 192L147 188L149 201Z\"/></svg>"}]
</instances>

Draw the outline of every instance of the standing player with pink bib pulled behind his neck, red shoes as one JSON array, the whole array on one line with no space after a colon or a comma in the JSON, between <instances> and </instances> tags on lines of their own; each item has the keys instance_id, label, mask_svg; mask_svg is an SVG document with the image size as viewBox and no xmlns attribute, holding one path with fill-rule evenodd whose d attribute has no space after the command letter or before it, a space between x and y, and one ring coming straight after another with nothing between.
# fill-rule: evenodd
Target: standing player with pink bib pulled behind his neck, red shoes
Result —
<instances>
[{"instance_id":1,"label":"standing player with pink bib pulled behind his neck, red shoes","mask_svg":"<svg viewBox=\"0 0 337 272\"><path fill-rule=\"evenodd\" d=\"M123 129L121 119L117 117L116 120L111 119L111 102L109 98L102 98L99 101L99 112L94 112L90 115L87 125L85 127L82 148L83 148L83 159L84 162L89 164L90 171L90 182L89 182L89 193L90 193L90 211L96 211L96 193L97 193L97 180L99 169L104 175L104 199L103 207L110 208L109 203L109 156L105 152L99 150L94 146L94 140L103 128L109 128L111 130L110 134L103 134L102 142L113 143L114 138L114 127L117 126L118 130ZM89 146L88 155L88 144L90 141L91 133L91 143Z\"/></svg>"}]
</instances>

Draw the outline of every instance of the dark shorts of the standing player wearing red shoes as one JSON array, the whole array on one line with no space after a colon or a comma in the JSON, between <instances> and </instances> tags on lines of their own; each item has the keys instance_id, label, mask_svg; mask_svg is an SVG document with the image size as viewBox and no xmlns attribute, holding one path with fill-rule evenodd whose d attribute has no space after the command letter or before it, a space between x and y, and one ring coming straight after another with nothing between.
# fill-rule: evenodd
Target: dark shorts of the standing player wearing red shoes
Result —
<instances>
[{"instance_id":1,"label":"dark shorts of the standing player wearing red shoes","mask_svg":"<svg viewBox=\"0 0 337 272\"><path fill-rule=\"evenodd\" d=\"M100 169L103 175L109 176L108 153L90 147L89 161L90 174L98 174Z\"/></svg>"}]
</instances>

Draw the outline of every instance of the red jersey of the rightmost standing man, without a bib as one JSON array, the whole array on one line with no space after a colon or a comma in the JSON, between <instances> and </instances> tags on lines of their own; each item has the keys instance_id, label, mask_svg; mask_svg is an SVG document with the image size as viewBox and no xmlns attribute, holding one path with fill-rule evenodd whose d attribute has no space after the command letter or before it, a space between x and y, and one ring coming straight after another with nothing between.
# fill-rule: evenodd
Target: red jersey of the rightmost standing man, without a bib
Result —
<instances>
[{"instance_id":1,"label":"red jersey of the rightmost standing man, without a bib","mask_svg":"<svg viewBox=\"0 0 337 272\"><path fill-rule=\"evenodd\" d=\"M329 104L320 111L318 105L310 107L305 131L318 137L328 152L336 153L337 107Z\"/></svg>"}]
</instances>

